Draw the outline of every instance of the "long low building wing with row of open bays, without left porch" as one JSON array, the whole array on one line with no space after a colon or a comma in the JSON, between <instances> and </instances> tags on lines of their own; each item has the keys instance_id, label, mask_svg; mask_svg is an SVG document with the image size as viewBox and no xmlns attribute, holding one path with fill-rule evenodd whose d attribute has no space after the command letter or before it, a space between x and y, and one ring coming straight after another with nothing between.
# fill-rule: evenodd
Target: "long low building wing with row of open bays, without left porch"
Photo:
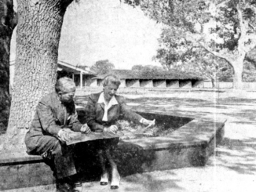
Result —
<instances>
[{"instance_id":1,"label":"long low building wing with row of open bays, without left porch","mask_svg":"<svg viewBox=\"0 0 256 192\"><path fill-rule=\"evenodd\" d=\"M101 86L101 82L108 74L114 74L121 80L120 87L134 88L193 88L203 87L203 78L196 74L179 71L155 71L146 73L131 70L112 70L107 74L97 74L88 83L90 87Z\"/></svg>"}]
</instances>

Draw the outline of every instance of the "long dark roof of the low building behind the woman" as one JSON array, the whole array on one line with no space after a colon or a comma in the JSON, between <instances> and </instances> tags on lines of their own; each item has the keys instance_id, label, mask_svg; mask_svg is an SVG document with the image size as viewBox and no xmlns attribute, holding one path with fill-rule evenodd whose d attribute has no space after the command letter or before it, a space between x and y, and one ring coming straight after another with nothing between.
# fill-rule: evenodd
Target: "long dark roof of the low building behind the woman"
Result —
<instances>
[{"instance_id":1,"label":"long dark roof of the low building behind the woman","mask_svg":"<svg viewBox=\"0 0 256 192\"><path fill-rule=\"evenodd\" d=\"M155 72L141 72L141 71L132 71L132 70L112 70L107 74L97 74L95 78L104 79L108 74L114 74L120 79L195 79L201 80L202 77L192 73L185 73L181 71L155 71Z\"/></svg>"}]
</instances>

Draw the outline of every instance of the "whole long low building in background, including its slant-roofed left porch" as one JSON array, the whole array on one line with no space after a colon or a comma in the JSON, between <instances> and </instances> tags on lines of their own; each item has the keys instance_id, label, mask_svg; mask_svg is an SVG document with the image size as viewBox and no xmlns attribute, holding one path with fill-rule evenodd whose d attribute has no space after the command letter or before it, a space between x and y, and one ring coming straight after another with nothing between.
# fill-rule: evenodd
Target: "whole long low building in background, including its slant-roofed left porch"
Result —
<instances>
[{"instance_id":1,"label":"whole long low building in background, including its slant-roofed left porch","mask_svg":"<svg viewBox=\"0 0 256 192\"><path fill-rule=\"evenodd\" d=\"M11 62L11 73L14 72L15 63ZM13 69L12 69L13 68ZM100 87L108 74L115 74L121 80L120 87L131 88L194 88L203 87L203 78L196 74L180 71L141 72L131 70L112 70L107 74L94 74L87 66L74 66L64 61L58 61L58 78L68 76L75 85L83 87ZM11 85L12 85L11 74Z\"/></svg>"}]
</instances>

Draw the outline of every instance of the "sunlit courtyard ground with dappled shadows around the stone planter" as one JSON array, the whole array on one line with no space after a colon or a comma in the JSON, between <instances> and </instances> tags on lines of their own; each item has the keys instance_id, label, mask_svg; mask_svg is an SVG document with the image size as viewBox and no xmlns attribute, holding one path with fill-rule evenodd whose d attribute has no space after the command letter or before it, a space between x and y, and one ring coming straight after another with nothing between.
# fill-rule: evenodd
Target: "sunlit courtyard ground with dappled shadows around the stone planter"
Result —
<instances>
[{"instance_id":1,"label":"sunlit courtyard ground with dappled shadows around the stone planter","mask_svg":"<svg viewBox=\"0 0 256 192\"><path fill-rule=\"evenodd\" d=\"M256 96L255 99L224 98L213 96L163 98L141 97L127 103L138 109L173 111L186 116L212 116L226 118L225 138L210 157L207 165L196 168L179 168L145 172L121 179L119 191L182 191L182 192L254 192L256 191ZM217 100L218 99L218 100ZM79 102L84 100L78 97ZM6 191L54 191L54 185ZM99 182L83 183L82 191L110 190Z\"/></svg>"}]
</instances>

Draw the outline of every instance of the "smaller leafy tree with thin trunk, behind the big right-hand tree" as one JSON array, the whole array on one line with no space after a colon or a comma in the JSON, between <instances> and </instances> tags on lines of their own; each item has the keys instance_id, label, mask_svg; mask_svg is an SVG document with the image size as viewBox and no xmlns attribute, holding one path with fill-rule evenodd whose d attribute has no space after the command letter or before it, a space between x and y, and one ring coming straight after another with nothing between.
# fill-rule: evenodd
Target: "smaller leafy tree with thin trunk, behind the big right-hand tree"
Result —
<instances>
[{"instance_id":1,"label":"smaller leafy tree with thin trunk, behind the big right-hand tree","mask_svg":"<svg viewBox=\"0 0 256 192\"><path fill-rule=\"evenodd\" d=\"M218 78L225 78L223 75L230 76L227 72L232 74L231 67L225 60L218 59L202 46L194 45L185 38L177 36L169 28L163 29L159 45L160 48L154 60L159 60L167 71L186 71L197 74L210 79L213 87Z\"/></svg>"}]
</instances>

